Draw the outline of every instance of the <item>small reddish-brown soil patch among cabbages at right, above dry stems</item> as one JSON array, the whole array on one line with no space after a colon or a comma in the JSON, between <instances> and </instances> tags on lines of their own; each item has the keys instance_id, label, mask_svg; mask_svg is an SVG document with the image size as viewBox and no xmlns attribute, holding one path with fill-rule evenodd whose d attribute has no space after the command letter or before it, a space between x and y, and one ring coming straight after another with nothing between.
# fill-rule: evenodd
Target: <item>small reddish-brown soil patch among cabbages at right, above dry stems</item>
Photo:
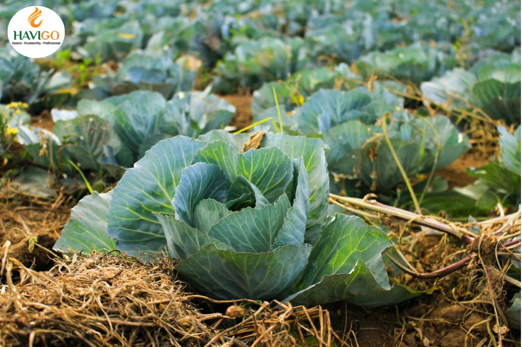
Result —
<instances>
[{"instance_id":1,"label":"small reddish-brown soil patch among cabbages at right, above dry stems","mask_svg":"<svg viewBox=\"0 0 522 347\"><path fill-rule=\"evenodd\" d=\"M449 166L436 171L435 175L444 178L449 188L465 187L477 180L475 177L468 176L468 167L480 167L488 162L488 158L484 153L471 149Z\"/></svg>"}]
</instances>

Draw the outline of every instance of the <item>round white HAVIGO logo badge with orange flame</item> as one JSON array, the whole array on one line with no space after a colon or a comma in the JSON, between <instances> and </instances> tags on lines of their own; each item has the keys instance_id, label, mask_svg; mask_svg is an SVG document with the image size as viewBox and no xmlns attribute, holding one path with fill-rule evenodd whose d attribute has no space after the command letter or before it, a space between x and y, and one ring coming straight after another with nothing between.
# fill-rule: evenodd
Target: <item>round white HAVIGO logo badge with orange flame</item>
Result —
<instances>
[{"instance_id":1,"label":"round white HAVIGO logo badge with orange flame","mask_svg":"<svg viewBox=\"0 0 522 347\"><path fill-rule=\"evenodd\" d=\"M20 54L43 58L60 48L65 37L62 18L43 6L19 10L7 27L9 43Z\"/></svg>"}]
</instances>

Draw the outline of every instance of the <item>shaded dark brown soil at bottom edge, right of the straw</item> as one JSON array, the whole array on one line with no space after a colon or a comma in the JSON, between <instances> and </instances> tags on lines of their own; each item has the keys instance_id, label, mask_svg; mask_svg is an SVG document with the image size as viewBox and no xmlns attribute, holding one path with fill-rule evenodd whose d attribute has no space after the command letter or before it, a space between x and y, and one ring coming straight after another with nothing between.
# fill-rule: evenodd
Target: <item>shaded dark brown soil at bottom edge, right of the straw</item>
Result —
<instances>
[{"instance_id":1,"label":"shaded dark brown soil at bottom edge, right of the straw","mask_svg":"<svg viewBox=\"0 0 522 347\"><path fill-rule=\"evenodd\" d=\"M351 346L460 347L489 338L486 323L472 328L486 319L484 315L445 301L440 293L396 307L364 309L336 303L326 308L334 330ZM492 329L494 323L489 324Z\"/></svg>"}]
</instances>

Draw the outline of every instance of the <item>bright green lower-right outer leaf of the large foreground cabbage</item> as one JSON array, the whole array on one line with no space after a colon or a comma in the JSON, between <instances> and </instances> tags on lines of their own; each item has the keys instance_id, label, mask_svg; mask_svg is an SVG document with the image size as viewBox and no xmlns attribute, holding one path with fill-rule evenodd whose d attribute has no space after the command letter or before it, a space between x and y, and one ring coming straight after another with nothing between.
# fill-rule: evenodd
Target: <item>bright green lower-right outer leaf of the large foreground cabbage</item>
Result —
<instances>
[{"instance_id":1,"label":"bright green lower-right outer leaf of the large foreground cabbage","mask_svg":"<svg viewBox=\"0 0 522 347\"><path fill-rule=\"evenodd\" d=\"M312 250L298 290L284 301L313 305L390 290L382 253L392 242L360 218L337 213Z\"/></svg>"}]
</instances>

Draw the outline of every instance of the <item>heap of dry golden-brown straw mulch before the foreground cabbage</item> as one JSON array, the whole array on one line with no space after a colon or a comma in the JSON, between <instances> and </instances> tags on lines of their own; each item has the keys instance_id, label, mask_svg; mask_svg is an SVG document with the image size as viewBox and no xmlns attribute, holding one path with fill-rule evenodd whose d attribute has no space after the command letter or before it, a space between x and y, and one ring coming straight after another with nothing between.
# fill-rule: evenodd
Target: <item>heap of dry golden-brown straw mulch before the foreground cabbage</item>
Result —
<instances>
[{"instance_id":1,"label":"heap of dry golden-brown straw mulch before the foreground cabbage","mask_svg":"<svg viewBox=\"0 0 522 347\"><path fill-rule=\"evenodd\" d=\"M38 272L5 248L1 347L293 346L310 337L328 346L336 337L321 307L243 301L228 302L226 314L201 314L194 301L208 298L186 293L167 257L142 264L91 253Z\"/></svg>"}]
</instances>

